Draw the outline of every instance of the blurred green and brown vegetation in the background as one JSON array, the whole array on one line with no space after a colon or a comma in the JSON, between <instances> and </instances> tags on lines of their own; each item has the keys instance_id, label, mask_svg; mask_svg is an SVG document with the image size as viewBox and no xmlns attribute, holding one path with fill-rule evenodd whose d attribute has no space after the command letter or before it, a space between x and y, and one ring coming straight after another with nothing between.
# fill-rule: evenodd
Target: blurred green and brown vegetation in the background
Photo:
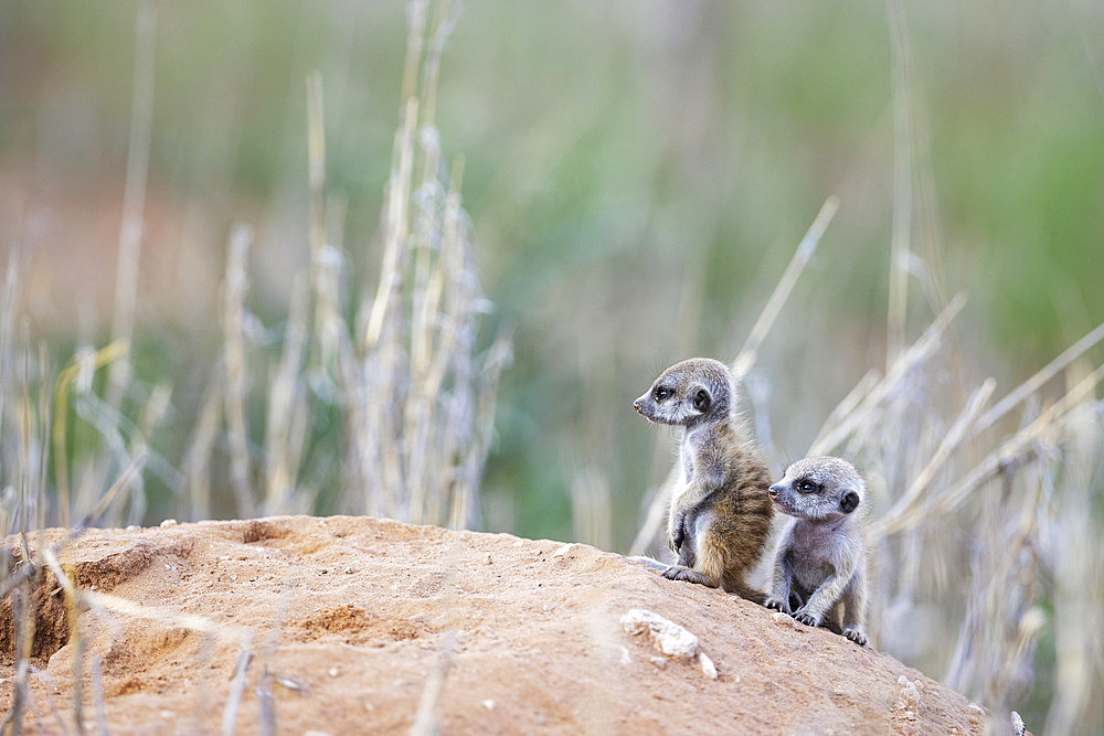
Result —
<instances>
[{"instance_id":1,"label":"blurred green and brown vegetation in the background","mask_svg":"<svg viewBox=\"0 0 1104 736\"><path fill-rule=\"evenodd\" d=\"M32 386L52 385L60 369L110 339L137 11L128 2L0 3L0 237L19 262L14 312L29 320L25 338L12 320L13 340L32 356L40 340L47 344L47 364L28 362ZM242 331L254 371L248 450L258 462L264 456L265 391L295 274L312 262L304 79L316 70L327 233L339 234L329 241L341 244L339 307L355 332L383 257L406 12L400 2L157 6L135 381L116 416L93 401L105 392L98 377L74 405L66 446L71 467L114 458L96 460L103 467L89 476L110 484L127 463L127 440L146 437L136 430L142 407L171 387L163 413L146 417L156 431L146 437L152 455L140 498L132 493L115 521L194 515L185 454L217 375L225 248L238 222L255 230ZM434 117L443 171L464 158L476 268L493 303L478 348L513 329L482 483L485 529L626 551L670 463L667 436L644 426L633 398L678 359L735 355L817 209L836 194L839 214L746 380L772 469L804 455L867 371L887 367L902 135L906 342L952 295L969 300L946 360L917 378L915 403L938 403L928 408L940 413L898 407L895 420L915 430L901 437L931 441L916 427L945 426L970 386L991 375L1004 395L1104 319L1096 2L473 1L445 47ZM1102 354L1087 353L1087 370ZM1060 383L1040 399L1064 393ZM339 465L332 437L342 405L326 382L310 391L306 455L316 452L317 468ZM214 441L210 511L238 515L230 440ZM898 476L883 479L890 489L917 471L894 467ZM1102 481L1098 471L1079 472L1089 479L1091 537L1104 529ZM340 487L316 480L299 479L314 495L289 508L349 508ZM92 483L74 498L86 510L96 492ZM56 510L38 513L59 521ZM956 535L973 523L946 536L964 548ZM1051 626L1039 643L1048 672L1063 636ZM947 666L949 654L938 657ZM958 675L968 679L966 669ZM1034 723L1050 702L1043 691L1028 710Z\"/></svg>"}]
</instances>

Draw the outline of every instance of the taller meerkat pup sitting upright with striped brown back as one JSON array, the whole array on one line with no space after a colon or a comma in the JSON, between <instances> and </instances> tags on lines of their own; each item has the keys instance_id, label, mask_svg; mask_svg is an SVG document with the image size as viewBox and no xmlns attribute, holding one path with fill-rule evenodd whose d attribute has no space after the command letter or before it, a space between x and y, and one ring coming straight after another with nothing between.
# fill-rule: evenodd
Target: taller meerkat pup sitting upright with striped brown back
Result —
<instances>
[{"instance_id":1,"label":"taller meerkat pup sitting upright with striped brown back","mask_svg":"<svg viewBox=\"0 0 1104 736\"><path fill-rule=\"evenodd\" d=\"M771 532L771 476L736 415L724 363L692 358L664 371L633 406L649 422L683 427L682 483L671 498L668 544L678 562L664 577L721 587L763 604L747 583Z\"/></svg>"}]
</instances>

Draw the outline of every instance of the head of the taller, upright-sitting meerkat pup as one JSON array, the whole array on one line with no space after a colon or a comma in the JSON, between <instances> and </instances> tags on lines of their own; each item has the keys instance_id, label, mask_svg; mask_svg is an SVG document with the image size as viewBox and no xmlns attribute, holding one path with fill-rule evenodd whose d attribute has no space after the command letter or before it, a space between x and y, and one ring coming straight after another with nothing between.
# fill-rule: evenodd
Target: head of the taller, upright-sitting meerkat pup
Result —
<instances>
[{"instance_id":1,"label":"head of the taller, upright-sitting meerkat pup","mask_svg":"<svg viewBox=\"0 0 1104 736\"><path fill-rule=\"evenodd\" d=\"M648 422L691 427L728 417L733 394L732 374L724 363L691 358L664 371L633 406Z\"/></svg>"}]
</instances>

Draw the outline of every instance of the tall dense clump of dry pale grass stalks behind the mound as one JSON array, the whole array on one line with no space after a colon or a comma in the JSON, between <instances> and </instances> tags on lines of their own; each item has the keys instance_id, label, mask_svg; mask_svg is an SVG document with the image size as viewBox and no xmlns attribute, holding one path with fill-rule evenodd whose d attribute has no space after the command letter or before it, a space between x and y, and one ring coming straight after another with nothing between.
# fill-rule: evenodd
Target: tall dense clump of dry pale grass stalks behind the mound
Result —
<instances>
[{"instance_id":1,"label":"tall dense clump of dry pale grass stalks behind the mound","mask_svg":"<svg viewBox=\"0 0 1104 736\"><path fill-rule=\"evenodd\" d=\"M410 49L423 47L426 12L425 3L410 7ZM440 52L454 23L449 8L439 8L425 60L421 51L407 56L405 79L416 79L422 67L421 89L404 86L380 282L354 320L363 337L355 360L340 356L340 376L352 476L365 489L363 510L466 525L477 515L488 413L509 349L500 338L484 355L476 351L487 303L459 194L463 161L454 164L447 186L439 175L432 116Z\"/></svg>"}]
</instances>

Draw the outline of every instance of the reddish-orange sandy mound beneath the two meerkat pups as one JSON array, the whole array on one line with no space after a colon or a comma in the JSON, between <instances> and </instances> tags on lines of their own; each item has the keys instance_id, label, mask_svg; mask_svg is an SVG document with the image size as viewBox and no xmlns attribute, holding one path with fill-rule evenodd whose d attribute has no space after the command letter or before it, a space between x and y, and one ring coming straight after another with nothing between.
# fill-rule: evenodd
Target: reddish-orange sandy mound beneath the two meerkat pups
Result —
<instances>
[{"instance_id":1,"label":"reddish-orange sandy mound beneath the two meerkat pups","mask_svg":"<svg viewBox=\"0 0 1104 736\"><path fill-rule=\"evenodd\" d=\"M217 732L235 690L241 733L272 719L289 734L404 732L427 683L444 733L984 725L978 706L891 657L585 545L285 516L93 530L62 563L81 586L114 597L79 619L84 717L97 718L88 673L98 663L113 734ZM72 718L75 647L56 582L36 584L43 672L30 675L24 725L55 733ZM116 598L140 608L124 611ZM716 679L700 658L666 657L647 633L628 633L620 619L630 609L696 634ZM3 713L14 697L11 652L6 599Z\"/></svg>"}]
</instances>

